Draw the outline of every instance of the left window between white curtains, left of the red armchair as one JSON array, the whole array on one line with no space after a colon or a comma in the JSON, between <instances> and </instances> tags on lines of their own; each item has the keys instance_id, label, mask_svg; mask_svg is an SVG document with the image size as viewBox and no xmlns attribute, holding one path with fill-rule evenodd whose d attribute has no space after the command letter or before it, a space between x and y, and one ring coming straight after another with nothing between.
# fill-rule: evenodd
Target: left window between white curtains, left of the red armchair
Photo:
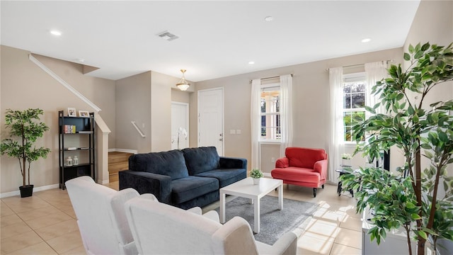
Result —
<instances>
[{"instance_id":1,"label":"left window between white curtains, left of the red armchair","mask_svg":"<svg viewBox=\"0 0 453 255\"><path fill-rule=\"evenodd\" d=\"M280 84L261 86L261 140L280 140Z\"/></svg>"}]
</instances>

